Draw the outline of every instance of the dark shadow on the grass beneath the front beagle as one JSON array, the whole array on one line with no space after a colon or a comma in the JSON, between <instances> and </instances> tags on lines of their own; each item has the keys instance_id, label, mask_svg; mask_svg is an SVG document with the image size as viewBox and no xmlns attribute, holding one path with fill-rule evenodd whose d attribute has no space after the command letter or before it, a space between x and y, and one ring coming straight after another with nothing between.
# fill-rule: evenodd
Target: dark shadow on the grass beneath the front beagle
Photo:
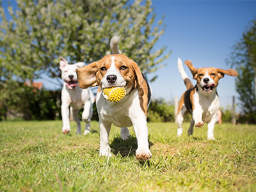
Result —
<instances>
[{"instance_id":1,"label":"dark shadow on the grass beneath the front beagle","mask_svg":"<svg viewBox=\"0 0 256 192\"><path fill-rule=\"evenodd\" d=\"M149 148L154 145L148 137ZM120 154L122 157L135 157L138 148L136 136L131 135L128 140L123 141L120 136L115 136L109 145L113 149L113 154Z\"/></svg>"}]
</instances>

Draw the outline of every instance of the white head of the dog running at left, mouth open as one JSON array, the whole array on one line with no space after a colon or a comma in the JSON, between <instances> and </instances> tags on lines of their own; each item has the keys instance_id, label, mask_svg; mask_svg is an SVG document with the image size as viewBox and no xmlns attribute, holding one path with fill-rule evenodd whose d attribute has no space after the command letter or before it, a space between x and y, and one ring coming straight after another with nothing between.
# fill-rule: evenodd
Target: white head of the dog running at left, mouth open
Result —
<instances>
[{"instance_id":1,"label":"white head of the dog running at left, mouth open","mask_svg":"<svg viewBox=\"0 0 256 192\"><path fill-rule=\"evenodd\" d=\"M77 75L76 68L83 67L84 62L75 63L69 65L67 60L61 58L60 60L60 69L61 69L61 78L65 81L65 84L69 90L73 90L77 86Z\"/></svg>"}]
</instances>

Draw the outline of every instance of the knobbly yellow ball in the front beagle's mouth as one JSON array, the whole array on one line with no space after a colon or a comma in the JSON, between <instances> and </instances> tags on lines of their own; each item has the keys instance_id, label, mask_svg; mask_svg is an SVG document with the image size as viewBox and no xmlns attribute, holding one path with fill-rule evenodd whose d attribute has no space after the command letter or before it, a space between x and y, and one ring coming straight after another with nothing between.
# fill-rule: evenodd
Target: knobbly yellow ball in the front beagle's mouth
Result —
<instances>
[{"instance_id":1,"label":"knobbly yellow ball in the front beagle's mouth","mask_svg":"<svg viewBox=\"0 0 256 192\"><path fill-rule=\"evenodd\" d=\"M125 87L111 87L103 90L103 97L111 102L116 102L124 98L126 94Z\"/></svg>"}]
</instances>

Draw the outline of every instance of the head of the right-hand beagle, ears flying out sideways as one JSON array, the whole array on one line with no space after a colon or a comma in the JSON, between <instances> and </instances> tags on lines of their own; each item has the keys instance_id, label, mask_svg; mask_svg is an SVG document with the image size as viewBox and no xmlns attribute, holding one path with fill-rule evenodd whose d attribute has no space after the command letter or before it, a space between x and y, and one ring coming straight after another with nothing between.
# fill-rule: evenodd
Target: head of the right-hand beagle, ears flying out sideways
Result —
<instances>
[{"instance_id":1,"label":"head of the right-hand beagle, ears flying out sideways","mask_svg":"<svg viewBox=\"0 0 256 192\"><path fill-rule=\"evenodd\" d=\"M199 88L202 88L203 92L211 93L214 88L219 84L219 80L224 77L225 74L228 76L238 76L236 70L228 69L224 70L222 68L195 68L191 61L185 61L185 64L189 67L193 79L196 79Z\"/></svg>"}]
</instances>

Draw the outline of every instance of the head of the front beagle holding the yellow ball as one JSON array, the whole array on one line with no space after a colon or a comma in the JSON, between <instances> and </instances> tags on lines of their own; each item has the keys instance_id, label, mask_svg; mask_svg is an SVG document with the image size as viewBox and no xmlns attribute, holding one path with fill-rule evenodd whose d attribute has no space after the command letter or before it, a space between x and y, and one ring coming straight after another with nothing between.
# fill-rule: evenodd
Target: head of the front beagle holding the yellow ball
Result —
<instances>
[{"instance_id":1,"label":"head of the front beagle holding the yellow ball","mask_svg":"<svg viewBox=\"0 0 256 192\"><path fill-rule=\"evenodd\" d=\"M81 88L100 86L102 89L125 86L127 92L138 87L140 96L144 94L143 77L138 65L123 54L104 56L100 61L77 68L77 79Z\"/></svg>"}]
</instances>

